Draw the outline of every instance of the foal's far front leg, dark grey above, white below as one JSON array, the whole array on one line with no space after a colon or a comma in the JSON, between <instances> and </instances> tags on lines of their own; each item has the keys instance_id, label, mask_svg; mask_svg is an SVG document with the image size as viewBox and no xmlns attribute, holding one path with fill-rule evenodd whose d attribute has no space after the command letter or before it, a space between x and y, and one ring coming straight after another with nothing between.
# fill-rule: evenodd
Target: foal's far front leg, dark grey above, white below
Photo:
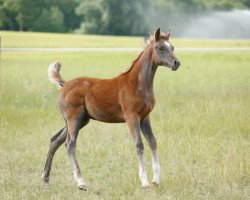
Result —
<instances>
[{"instance_id":1,"label":"foal's far front leg, dark grey above, white below","mask_svg":"<svg viewBox=\"0 0 250 200\"><path fill-rule=\"evenodd\" d=\"M152 167L153 167L153 180L152 183L156 186L159 185L160 181L160 164L159 159L157 155L157 143L156 139L154 137L154 134L152 132L150 119L146 118L140 122L141 131L143 135L145 136L146 140L148 141L148 144L150 146L151 152L152 152Z\"/></svg>"}]
</instances>

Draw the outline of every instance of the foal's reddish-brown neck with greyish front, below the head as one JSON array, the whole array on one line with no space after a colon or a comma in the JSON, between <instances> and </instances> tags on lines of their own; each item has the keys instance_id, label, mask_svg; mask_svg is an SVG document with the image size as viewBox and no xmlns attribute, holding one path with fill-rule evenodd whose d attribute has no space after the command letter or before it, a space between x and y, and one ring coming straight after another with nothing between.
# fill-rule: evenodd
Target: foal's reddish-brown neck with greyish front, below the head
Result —
<instances>
[{"instance_id":1,"label":"foal's reddish-brown neck with greyish front, below the head","mask_svg":"<svg viewBox=\"0 0 250 200\"><path fill-rule=\"evenodd\" d=\"M138 89L153 91L153 81L157 66L152 59L152 44L141 53L129 75L138 84Z\"/></svg>"}]
</instances>

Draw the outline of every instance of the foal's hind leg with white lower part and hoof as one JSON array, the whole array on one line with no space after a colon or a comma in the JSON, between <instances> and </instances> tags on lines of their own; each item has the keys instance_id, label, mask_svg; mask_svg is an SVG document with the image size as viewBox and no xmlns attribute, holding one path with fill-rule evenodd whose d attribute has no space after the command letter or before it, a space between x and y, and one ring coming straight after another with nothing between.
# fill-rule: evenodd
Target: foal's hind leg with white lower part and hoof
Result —
<instances>
[{"instance_id":1,"label":"foal's hind leg with white lower part and hoof","mask_svg":"<svg viewBox=\"0 0 250 200\"><path fill-rule=\"evenodd\" d=\"M66 139L66 148L68 151L68 155L73 166L73 173L75 181L77 182L77 186L79 189L86 190L86 184L83 180L81 170L76 160L75 149L76 149L76 141L79 130L88 124L89 119L84 117L84 114L80 114L77 119L68 119L67 126L68 126L68 135Z\"/></svg>"}]
</instances>

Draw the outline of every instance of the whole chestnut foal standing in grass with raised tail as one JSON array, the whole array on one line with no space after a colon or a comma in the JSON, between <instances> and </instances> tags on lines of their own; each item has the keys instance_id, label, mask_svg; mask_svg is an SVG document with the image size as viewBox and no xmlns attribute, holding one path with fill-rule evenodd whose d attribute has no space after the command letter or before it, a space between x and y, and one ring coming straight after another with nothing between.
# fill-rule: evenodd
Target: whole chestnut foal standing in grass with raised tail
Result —
<instances>
[{"instance_id":1,"label":"whole chestnut foal standing in grass with raised tail","mask_svg":"<svg viewBox=\"0 0 250 200\"><path fill-rule=\"evenodd\" d=\"M131 67L111 79L79 77L66 82L60 75L60 62L49 66L49 79L61 86L58 104L65 126L50 140L42 177L44 183L49 184L53 156L65 142L78 188L87 189L75 155L76 142L79 130L90 120L97 120L106 123L127 123L135 143L141 187L149 188L144 166L142 132L152 154L152 183L159 185L160 164L149 114L155 105L153 80L158 66L165 66L173 71L180 66L169 38L170 31L164 33L158 28Z\"/></svg>"}]
</instances>

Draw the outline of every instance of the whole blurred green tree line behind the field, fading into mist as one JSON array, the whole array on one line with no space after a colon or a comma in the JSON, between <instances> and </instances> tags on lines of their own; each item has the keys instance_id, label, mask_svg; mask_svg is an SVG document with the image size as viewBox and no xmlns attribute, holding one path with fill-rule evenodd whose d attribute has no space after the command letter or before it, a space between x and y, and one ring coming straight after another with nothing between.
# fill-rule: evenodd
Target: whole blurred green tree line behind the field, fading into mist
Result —
<instances>
[{"instance_id":1,"label":"whole blurred green tree line behind the field, fading into mist","mask_svg":"<svg viewBox=\"0 0 250 200\"><path fill-rule=\"evenodd\" d=\"M142 35L250 0L0 0L0 30Z\"/></svg>"}]
</instances>

